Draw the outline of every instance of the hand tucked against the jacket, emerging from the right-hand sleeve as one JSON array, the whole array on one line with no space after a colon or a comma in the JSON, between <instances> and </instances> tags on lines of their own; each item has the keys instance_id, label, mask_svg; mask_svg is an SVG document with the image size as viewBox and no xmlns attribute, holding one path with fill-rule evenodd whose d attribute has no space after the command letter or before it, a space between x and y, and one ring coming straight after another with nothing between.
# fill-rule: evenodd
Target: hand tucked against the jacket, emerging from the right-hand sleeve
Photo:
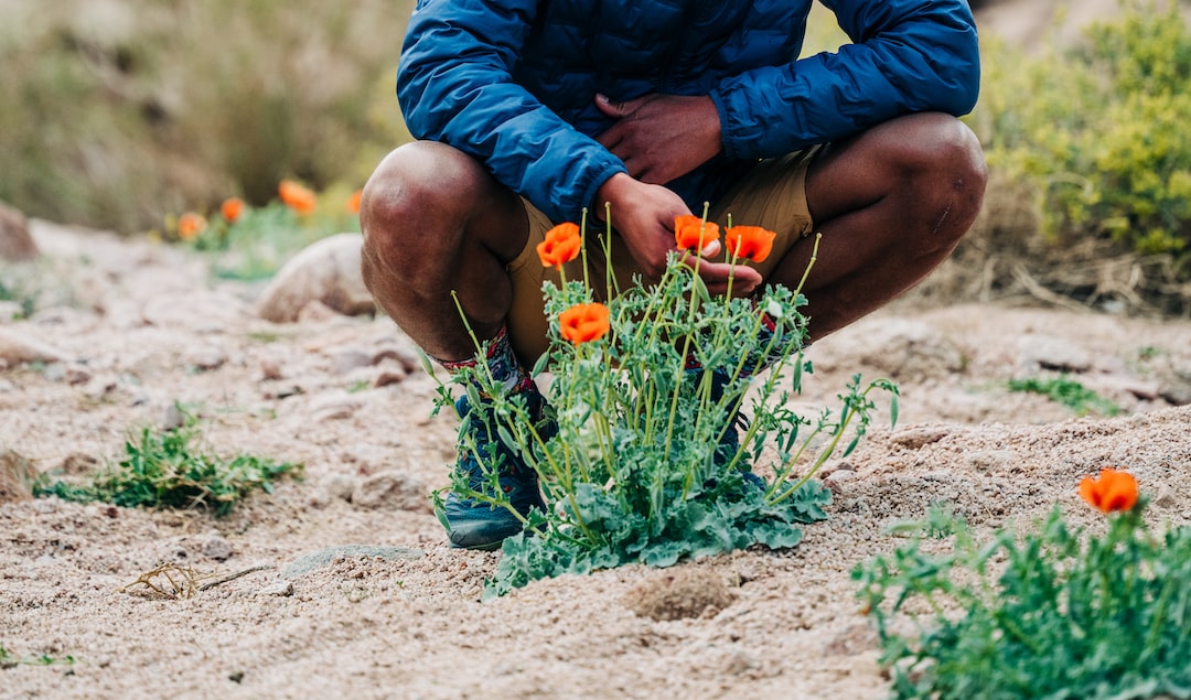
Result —
<instances>
[{"instance_id":1,"label":"hand tucked against the jacket, emerging from the right-hand sleeve","mask_svg":"<svg viewBox=\"0 0 1191 700\"><path fill-rule=\"evenodd\" d=\"M651 94L625 102L596 95L596 107L616 118L596 140L649 185L686 175L723 149L719 113L706 95Z\"/></svg>"}]
</instances>

